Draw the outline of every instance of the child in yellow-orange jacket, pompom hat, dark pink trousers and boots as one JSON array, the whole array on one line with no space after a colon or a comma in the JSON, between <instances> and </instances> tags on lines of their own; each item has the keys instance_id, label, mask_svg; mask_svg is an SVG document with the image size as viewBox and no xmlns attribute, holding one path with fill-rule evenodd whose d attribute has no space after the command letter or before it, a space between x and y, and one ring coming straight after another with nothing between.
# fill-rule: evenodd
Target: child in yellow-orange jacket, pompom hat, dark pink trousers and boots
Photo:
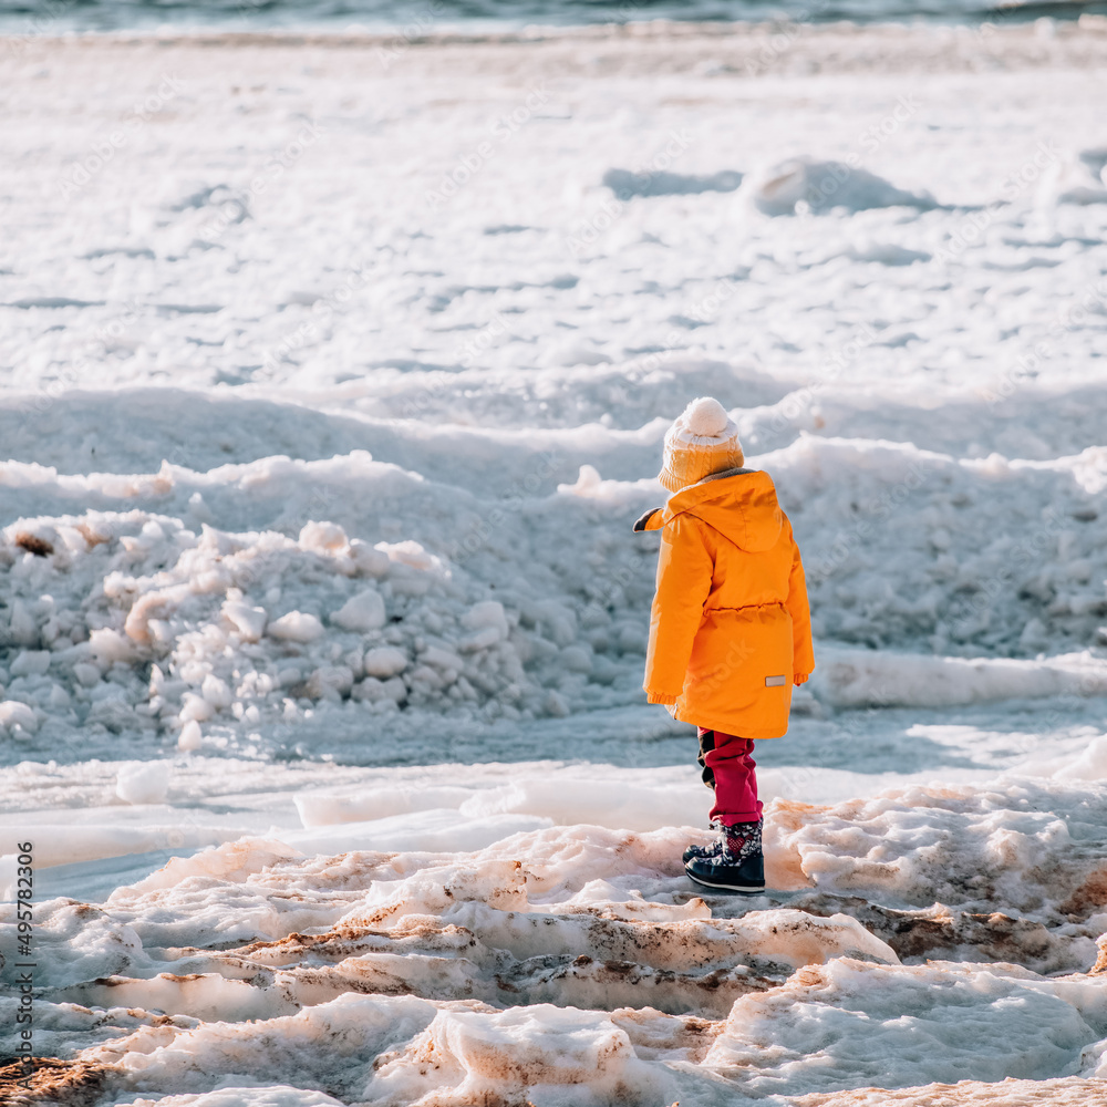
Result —
<instances>
[{"instance_id":1,"label":"child in yellow-orange jacket, pompom hat, dark pink trousers and boots","mask_svg":"<svg viewBox=\"0 0 1107 1107\"><path fill-rule=\"evenodd\" d=\"M815 668L807 586L792 524L767 473L743 468L738 428L717 400L693 400L665 435L659 479L672 496L634 524L661 531L644 687L700 734L715 789L706 848L684 871L708 888L765 890L755 738L788 728L792 685Z\"/></svg>"}]
</instances>

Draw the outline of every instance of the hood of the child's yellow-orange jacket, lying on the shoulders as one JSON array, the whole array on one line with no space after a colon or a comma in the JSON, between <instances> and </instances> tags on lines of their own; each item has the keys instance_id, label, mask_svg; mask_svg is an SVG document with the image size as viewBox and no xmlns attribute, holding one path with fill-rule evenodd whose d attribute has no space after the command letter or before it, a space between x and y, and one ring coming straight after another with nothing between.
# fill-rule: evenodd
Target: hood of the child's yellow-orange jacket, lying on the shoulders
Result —
<instances>
[{"instance_id":1,"label":"hood of the child's yellow-orange jacket, lying on the shoulders","mask_svg":"<svg viewBox=\"0 0 1107 1107\"><path fill-rule=\"evenodd\" d=\"M784 526L776 486L763 469L724 469L704 477L671 496L659 513L663 519L654 516L655 525L681 514L695 516L751 554L775 546Z\"/></svg>"}]
</instances>

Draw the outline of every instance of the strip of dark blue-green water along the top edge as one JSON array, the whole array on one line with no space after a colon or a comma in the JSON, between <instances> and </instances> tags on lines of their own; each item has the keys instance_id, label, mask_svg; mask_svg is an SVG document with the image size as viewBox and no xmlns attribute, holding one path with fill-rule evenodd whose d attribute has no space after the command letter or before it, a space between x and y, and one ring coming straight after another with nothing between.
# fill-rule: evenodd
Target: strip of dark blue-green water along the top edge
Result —
<instances>
[{"instance_id":1,"label":"strip of dark blue-green water along the top edge","mask_svg":"<svg viewBox=\"0 0 1107 1107\"><path fill-rule=\"evenodd\" d=\"M790 19L859 23L927 20L996 23L1107 12L1107 0L0 0L0 30L51 34L172 25L223 29L321 28L426 33L569 25Z\"/></svg>"}]
</instances>

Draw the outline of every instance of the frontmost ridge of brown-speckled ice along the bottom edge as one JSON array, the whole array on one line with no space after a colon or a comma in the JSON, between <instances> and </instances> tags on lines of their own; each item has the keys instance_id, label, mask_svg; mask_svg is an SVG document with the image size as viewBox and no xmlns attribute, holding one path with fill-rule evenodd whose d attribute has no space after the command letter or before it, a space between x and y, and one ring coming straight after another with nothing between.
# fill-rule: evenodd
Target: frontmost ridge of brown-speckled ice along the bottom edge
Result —
<instances>
[{"instance_id":1,"label":"frontmost ridge of brown-speckled ice along the bottom edge","mask_svg":"<svg viewBox=\"0 0 1107 1107\"><path fill-rule=\"evenodd\" d=\"M344 1101L400 1105L433 1096L459 1107L525 1096L550 1107L662 1107L677 1096L717 1103L721 1092L834 1094L865 1088L866 1076L903 1089L955 1082L966 1067L985 1079L1003 1080L1014 1069L1016 1079L1056 1082L1058 1068L1103 1032L1100 991L1094 981L1046 981L1010 966L844 960L801 970L714 1023L649 1008L496 1010L475 1000L346 993L258 1023L141 1027L84 1056L118 1066L111 1078L118 1092L161 1083L203 1095L239 1072L245 1053L251 1070L270 1080L325 1083ZM813 1037L819 1047L811 1048ZM981 1057L985 1043L994 1061ZM325 1069L328 1063L335 1067ZM836 1064L856 1066L856 1075ZM1095 1094L1095 1084L1079 1083Z\"/></svg>"}]
</instances>

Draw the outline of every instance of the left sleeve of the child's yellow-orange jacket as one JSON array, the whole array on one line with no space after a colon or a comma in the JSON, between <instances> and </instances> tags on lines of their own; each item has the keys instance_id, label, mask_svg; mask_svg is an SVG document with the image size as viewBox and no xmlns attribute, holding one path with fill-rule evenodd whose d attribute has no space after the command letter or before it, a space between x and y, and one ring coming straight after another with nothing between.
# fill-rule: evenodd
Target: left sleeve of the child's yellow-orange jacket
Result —
<instances>
[{"instance_id":1,"label":"left sleeve of the child's yellow-orange jacket","mask_svg":"<svg viewBox=\"0 0 1107 1107\"><path fill-rule=\"evenodd\" d=\"M650 703L675 703L684 691L692 641L703 619L714 568L695 519L677 515L666 524L645 651L643 687Z\"/></svg>"}]
</instances>

